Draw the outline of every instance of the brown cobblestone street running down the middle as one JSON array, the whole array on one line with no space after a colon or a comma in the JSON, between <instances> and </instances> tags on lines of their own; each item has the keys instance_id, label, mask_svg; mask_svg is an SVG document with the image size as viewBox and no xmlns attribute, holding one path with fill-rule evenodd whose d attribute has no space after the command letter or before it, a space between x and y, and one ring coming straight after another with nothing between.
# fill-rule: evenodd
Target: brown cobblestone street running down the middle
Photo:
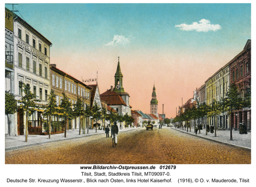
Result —
<instances>
[{"instance_id":1,"label":"brown cobblestone street running down the middle","mask_svg":"<svg viewBox=\"0 0 256 187\"><path fill-rule=\"evenodd\" d=\"M120 132L112 147L105 134L5 152L6 164L250 164L251 152L175 129Z\"/></svg>"}]
</instances>

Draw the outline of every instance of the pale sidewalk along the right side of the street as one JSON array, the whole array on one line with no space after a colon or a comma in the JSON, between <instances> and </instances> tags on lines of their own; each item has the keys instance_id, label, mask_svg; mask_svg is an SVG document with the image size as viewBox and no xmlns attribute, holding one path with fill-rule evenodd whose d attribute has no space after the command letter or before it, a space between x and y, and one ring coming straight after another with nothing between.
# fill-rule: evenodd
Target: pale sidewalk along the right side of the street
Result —
<instances>
[{"instance_id":1,"label":"pale sidewalk along the right side of the street","mask_svg":"<svg viewBox=\"0 0 256 187\"><path fill-rule=\"evenodd\" d=\"M175 129L175 127L172 127L172 129ZM214 136L214 133L208 132L207 135L205 134L206 129L201 130L201 133L199 134L199 131L197 135L195 135L194 127L191 127L191 132L186 132L186 130L178 129L175 130L184 132L190 135L194 135L200 138L204 138L210 141L215 141L221 144L226 144L234 147L239 147L245 150L251 151L251 132L247 132L247 134L239 134L239 129L232 130L232 137L233 140L230 140L230 130L217 130L216 131L216 137Z\"/></svg>"}]
</instances>

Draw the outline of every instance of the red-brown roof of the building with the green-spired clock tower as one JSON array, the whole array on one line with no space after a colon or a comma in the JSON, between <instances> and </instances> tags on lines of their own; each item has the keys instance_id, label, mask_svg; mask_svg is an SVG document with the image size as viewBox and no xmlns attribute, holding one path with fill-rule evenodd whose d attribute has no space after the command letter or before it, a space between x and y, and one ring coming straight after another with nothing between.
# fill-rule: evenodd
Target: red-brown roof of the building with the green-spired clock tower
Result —
<instances>
[{"instance_id":1,"label":"red-brown roof of the building with the green-spired clock tower","mask_svg":"<svg viewBox=\"0 0 256 187\"><path fill-rule=\"evenodd\" d=\"M108 105L125 105L125 101L122 99L120 95L118 95L116 92L111 91L108 89L106 92L102 93L100 97L108 102Z\"/></svg>"}]
</instances>

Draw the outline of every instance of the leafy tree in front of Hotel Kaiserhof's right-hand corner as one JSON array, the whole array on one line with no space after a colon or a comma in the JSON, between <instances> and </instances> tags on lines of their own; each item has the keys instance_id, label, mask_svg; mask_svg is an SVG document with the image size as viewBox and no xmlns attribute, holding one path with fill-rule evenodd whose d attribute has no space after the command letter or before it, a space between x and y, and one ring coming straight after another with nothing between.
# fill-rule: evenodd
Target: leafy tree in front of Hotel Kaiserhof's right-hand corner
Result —
<instances>
[{"instance_id":1,"label":"leafy tree in front of Hotel Kaiserhof's right-hand corner","mask_svg":"<svg viewBox=\"0 0 256 187\"><path fill-rule=\"evenodd\" d=\"M54 115L57 112L57 104L56 104L56 95L54 94L54 91L51 90L51 93L48 98L49 103L45 106L43 115L49 116L49 139L51 138L51 126L52 126L52 115Z\"/></svg>"}]
</instances>

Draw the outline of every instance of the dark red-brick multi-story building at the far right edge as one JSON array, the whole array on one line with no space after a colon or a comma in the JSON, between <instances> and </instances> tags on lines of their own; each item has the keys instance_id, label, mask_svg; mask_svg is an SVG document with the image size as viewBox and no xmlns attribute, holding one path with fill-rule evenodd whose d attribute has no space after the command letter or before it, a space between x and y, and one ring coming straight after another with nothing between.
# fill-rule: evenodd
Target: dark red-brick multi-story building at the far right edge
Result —
<instances>
[{"instance_id":1,"label":"dark red-brick multi-story building at the far right edge","mask_svg":"<svg viewBox=\"0 0 256 187\"><path fill-rule=\"evenodd\" d=\"M235 84L244 98L246 88L251 86L251 40L247 40L244 49L228 63L230 69L230 84ZM247 130L251 130L251 108L233 110L231 113L231 125L239 128L239 123L244 122Z\"/></svg>"}]
</instances>

